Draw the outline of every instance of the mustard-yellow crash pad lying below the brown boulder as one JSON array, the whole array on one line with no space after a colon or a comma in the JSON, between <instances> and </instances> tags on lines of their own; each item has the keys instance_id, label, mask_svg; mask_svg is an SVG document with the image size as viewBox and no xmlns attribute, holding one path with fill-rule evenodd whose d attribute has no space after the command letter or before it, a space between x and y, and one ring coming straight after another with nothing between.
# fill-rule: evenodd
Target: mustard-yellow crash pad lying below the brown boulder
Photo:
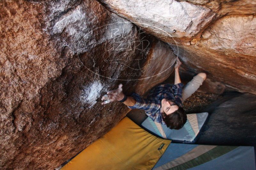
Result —
<instances>
[{"instance_id":1,"label":"mustard-yellow crash pad lying below the brown boulder","mask_svg":"<svg viewBox=\"0 0 256 170\"><path fill-rule=\"evenodd\" d=\"M152 169L170 143L170 140L151 135L125 117L62 170Z\"/></svg>"}]
</instances>

